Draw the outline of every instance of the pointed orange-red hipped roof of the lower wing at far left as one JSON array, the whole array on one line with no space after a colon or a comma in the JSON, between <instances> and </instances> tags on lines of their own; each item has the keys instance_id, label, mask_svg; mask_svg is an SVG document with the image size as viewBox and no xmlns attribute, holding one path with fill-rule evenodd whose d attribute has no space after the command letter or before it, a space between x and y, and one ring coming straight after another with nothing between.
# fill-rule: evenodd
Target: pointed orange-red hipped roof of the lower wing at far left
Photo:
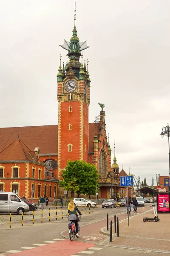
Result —
<instances>
[{"instance_id":1,"label":"pointed orange-red hipped roof of the lower wing at far left","mask_svg":"<svg viewBox=\"0 0 170 256\"><path fill-rule=\"evenodd\" d=\"M30 160L32 157L29 154L31 151L21 140L15 140L8 145L3 151L0 152L0 160Z\"/></svg>"}]
</instances>

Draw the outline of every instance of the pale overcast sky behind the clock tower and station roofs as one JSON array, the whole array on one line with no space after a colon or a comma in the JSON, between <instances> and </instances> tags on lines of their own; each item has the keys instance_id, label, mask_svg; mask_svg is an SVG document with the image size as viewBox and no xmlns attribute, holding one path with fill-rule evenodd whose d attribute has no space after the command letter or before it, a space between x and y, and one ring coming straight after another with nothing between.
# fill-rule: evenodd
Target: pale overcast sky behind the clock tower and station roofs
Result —
<instances>
[{"instance_id":1,"label":"pale overcast sky behind the clock tower and station roofs","mask_svg":"<svg viewBox=\"0 0 170 256\"><path fill-rule=\"evenodd\" d=\"M77 34L90 48L89 122L105 104L112 163L148 185L168 175L170 1L77 0ZM0 127L58 124L59 47L70 40L74 1L0 1Z\"/></svg>"}]
</instances>

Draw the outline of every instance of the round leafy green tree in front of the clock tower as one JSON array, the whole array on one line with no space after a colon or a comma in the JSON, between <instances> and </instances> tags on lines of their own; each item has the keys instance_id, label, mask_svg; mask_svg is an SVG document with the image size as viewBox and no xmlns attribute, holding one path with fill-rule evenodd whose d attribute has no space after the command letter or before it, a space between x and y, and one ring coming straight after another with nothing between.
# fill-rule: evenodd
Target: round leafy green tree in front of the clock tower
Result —
<instances>
[{"instance_id":1,"label":"round leafy green tree in front of the clock tower","mask_svg":"<svg viewBox=\"0 0 170 256\"><path fill-rule=\"evenodd\" d=\"M65 170L62 171L62 180L59 186L68 191L80 194L95 195L96 186L99 188L99 175L96 166L85 161L67 161Z\"/></svg>"}]
</instances>

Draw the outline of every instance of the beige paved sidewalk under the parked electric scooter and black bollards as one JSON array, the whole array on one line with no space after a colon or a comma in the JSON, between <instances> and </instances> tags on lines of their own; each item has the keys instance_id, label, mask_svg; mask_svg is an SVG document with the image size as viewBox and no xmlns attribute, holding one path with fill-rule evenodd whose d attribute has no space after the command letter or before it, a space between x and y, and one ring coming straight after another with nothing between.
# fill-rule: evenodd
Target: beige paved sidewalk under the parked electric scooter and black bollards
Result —
<instances>
[{"instance_id":1,"label":"beige paved sidewalk under the parked electric scooter and black bollards","mask_svg":"<svg viewBox=\"0 0 170 256\"><path fill-rule=\"evenodd\" d=\"M170 213L159 213L159 222L144 222L143 217L153 218L153 210L130 215L129 227L128 221L120 221L119 237L114 233L113 223L113 236L110 244L112 246L170 253ZM110 236L110 227L109 231L106 227L101 229L101 233Z\"/></svg>"}]
</instances>

